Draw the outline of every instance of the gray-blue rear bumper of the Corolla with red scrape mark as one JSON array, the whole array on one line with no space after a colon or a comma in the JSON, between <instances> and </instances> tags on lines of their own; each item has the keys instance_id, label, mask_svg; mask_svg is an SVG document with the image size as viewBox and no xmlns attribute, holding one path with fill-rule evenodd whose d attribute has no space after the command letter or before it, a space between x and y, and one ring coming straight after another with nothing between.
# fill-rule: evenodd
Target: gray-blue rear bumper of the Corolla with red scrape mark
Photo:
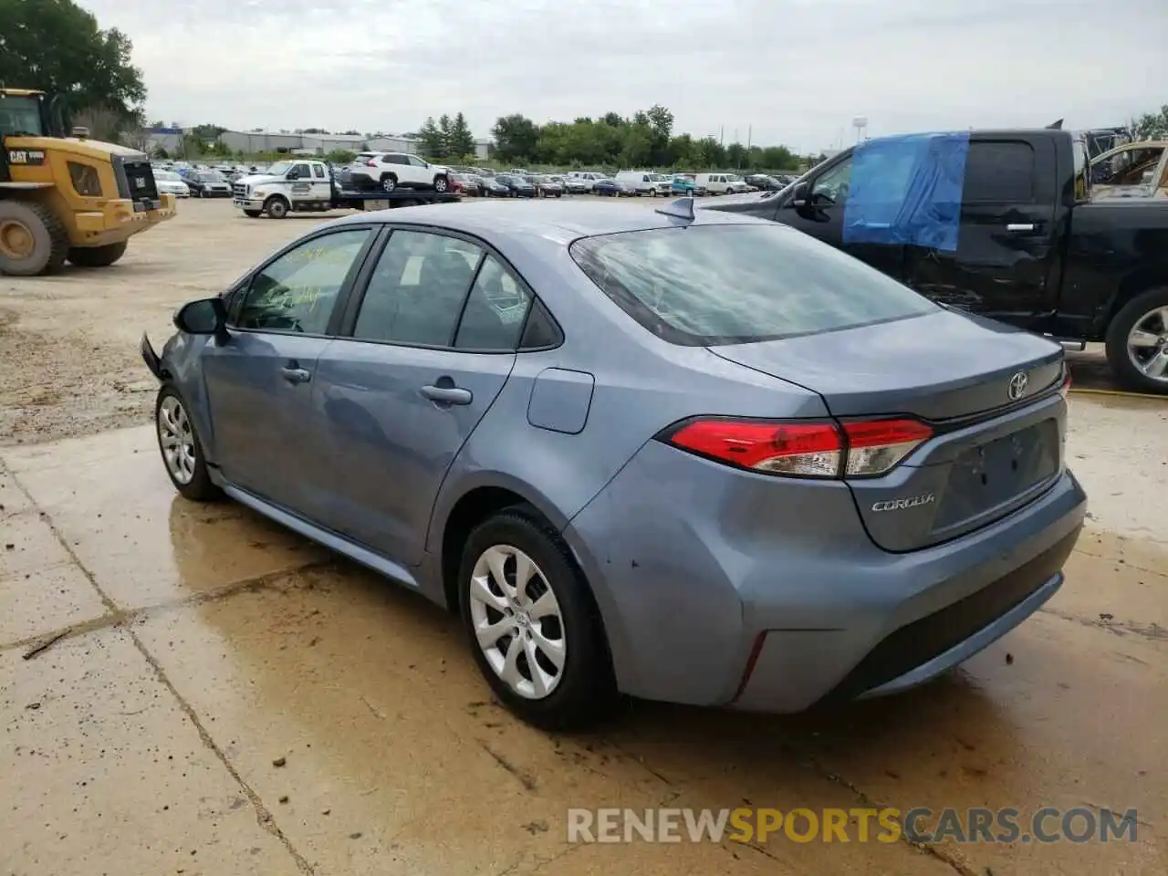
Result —
<instances>
[{"instance_id":1,"label":"gray-blue rear bumper of the Corolla with red scrape mark","mask_svg":"<svg viewBox=\"0 0 1168 876\"><path fill-rule=\"evenodd\" d=\"M1061 585L1085 514L1068 472L992 526L890 554L842 484L649 442L564 536L625 693L799 711L919 684L1011 630Z\"/></svg>"}]
</instances>

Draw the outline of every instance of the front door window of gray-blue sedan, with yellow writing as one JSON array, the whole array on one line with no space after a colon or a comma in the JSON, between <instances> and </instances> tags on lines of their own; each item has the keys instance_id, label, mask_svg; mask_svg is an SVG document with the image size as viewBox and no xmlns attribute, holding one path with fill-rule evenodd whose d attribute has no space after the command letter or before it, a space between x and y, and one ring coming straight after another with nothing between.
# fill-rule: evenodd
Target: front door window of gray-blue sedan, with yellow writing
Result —
<instances>
[{"instance_id":1,"label":"front door window of gray-blue sedan, with yellow writing","mask_svg":"<svg viewBox=\"0 0 1168 876\"><path fill-rule=\"evenodd\" d=\"M324 334L368 229L313 237L260 269L234 325L257 332Z\"/></svg>"}]
</instances>

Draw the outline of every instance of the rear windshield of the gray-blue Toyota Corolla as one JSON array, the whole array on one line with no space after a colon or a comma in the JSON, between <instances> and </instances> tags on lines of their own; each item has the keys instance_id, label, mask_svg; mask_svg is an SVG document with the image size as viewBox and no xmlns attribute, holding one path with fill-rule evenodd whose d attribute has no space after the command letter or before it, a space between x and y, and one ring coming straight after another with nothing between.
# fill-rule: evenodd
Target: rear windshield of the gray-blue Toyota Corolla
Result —
<instances>
[{"instance_id":1,"label":"rear windshield of the gray-blue Toyota Corolla","mask_svg":"<svg viewBox=\"0 0 1168 876\"><path fill-rule=\"evenodd\" d=\"M628 315L686 346L750 343L937 310L874 267L781 225L585 237L576 264Z\"/></svg>"}]
</instances>

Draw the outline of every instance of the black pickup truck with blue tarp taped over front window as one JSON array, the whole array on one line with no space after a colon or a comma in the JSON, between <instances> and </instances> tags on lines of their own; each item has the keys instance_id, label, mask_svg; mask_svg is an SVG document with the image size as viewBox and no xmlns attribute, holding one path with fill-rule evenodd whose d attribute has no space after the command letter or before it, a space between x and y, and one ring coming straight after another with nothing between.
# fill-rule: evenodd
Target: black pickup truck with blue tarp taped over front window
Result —
<instances>
[{"instance_id":1,"label":"black pickup truck with blue tarp taped over front window","mask_svg":"<svg viewBox=\"0 0 1168 876\"><path fill-rule=\"evenodd\" d=\"M945 306L1049 335L1066 347L1101 341L1122 383L1168 395L1168 201L1092 201L1086 144L1068 131L940 137L965 144L950 197L951 234L938 236L945 243L918 234L920 223L916 230L897 224L912 213L905 203L934 186L932 178L944 176L943 162L925 162L920 172L917 161L917 172L897 182L897 167L906 165L894 161L874 181L865 157L877 140L828 159L779 192L721 197L702 207L792 225ZM855 167L869 168L867 181L875 185L865 192L902 202L876 203L884 209L875 210L849 204L849 194L860 197ZM926 223L931 214L944 224L945 213L944 197L917 210ZM872 222L872 216L885 221ZM871 231L877 225L883 232Z\"/></svg>"}]
</instances>

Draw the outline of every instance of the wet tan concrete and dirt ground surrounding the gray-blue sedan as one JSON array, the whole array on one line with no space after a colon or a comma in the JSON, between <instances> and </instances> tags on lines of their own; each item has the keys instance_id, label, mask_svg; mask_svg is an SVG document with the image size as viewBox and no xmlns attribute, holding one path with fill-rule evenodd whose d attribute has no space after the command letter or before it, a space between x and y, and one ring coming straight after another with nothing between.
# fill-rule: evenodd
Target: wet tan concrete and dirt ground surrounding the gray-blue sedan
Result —
<instances>
[{"instance_id":1,"label":"wet tan concrete and dirt ground surrounding the gray-blue sedan","mask_svg":"<svg viewBox=\"0 0 1168 876\"><path fill-rule=\"evenodd\" d=\"M491 701L454 619L166 479L142 331L318 221L195 201L109 270L0 278L0 872L1168 872L1168 402L1072 395L1091 514L1066 583L948 676L549 736ZM1076 364L1096 385L1098 354ZM569 808L662 806L1136 820L1134 842L569 841Z\"/></svg>"}]
</instances>

